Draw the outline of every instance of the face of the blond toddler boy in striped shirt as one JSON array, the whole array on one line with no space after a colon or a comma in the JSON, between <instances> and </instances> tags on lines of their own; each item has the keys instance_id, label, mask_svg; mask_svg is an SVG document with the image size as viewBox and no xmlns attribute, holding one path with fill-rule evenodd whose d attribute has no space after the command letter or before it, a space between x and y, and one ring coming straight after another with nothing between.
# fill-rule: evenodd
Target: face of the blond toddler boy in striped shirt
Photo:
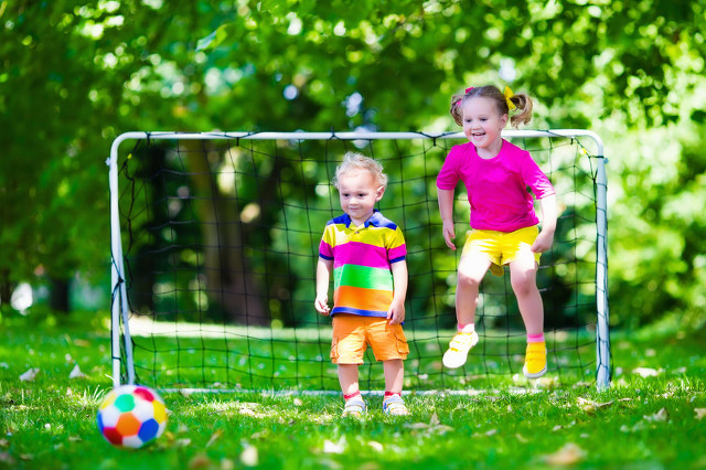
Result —
<instances>
[{"instance_id":1,"label":"face of the blond toddler boy in striped shirt","mask_svg":"<svg viewBox=\"0 0 706 470\"><path fill-rule=\"evenodd\" d=\"M361 225L373 215L375 203L383 199L385 188L379 186L367 170L354 170L339 177L341 209L355 225Z\"/></svg>"}]
</instances>

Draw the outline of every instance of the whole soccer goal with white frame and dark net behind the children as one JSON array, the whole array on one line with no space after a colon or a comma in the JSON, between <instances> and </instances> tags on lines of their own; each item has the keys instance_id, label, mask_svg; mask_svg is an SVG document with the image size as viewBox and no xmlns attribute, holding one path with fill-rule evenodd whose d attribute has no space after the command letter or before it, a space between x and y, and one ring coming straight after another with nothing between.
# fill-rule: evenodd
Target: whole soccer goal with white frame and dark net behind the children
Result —
<instances>
[{"instance_id":1,"label":"whole soccer goal with white frame and dark net behind the children","mask_svg":"<svg viewBox=\"0 0 706 470\"><path fill-rule=\"evenodd\" d=\"M507 130L557 191L559 220L537 284L558 384L610 383L603 149L588 130ZM485 276L480 343L467 364L441 356L454 324L460 249L446 247L436 175L460 132L127 132L113 142L111 355L115 385L334 393L331 319L313 308L318 248L341 213L331 180L347 151L389 184L378 209L403 229L409 289L405 389L522 383L525 332L510 286ZM457 188L457 244L469 209ZM361 387L382 389L370 350Z\"/></svg>"}]
</instances>

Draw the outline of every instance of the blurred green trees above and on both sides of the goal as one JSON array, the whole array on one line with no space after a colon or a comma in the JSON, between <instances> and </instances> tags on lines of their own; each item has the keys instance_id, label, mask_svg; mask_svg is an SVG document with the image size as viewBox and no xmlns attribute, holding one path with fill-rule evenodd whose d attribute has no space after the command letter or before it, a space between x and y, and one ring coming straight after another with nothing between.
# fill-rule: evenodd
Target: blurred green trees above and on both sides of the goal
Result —
<instances>
[{"instance_id":1,"label":"blurred green trees above and on both sides of the goal","mask_svg":"<svg viewBox=\"0 0 706 470\"><path fill-rule=\"evenodd\" d=\"M603 139L611 329L703 332L705 23L703 0L0 1L0 332L107 313L121 132L450 131L486 83Z\"/></svg>"}]
</instances>

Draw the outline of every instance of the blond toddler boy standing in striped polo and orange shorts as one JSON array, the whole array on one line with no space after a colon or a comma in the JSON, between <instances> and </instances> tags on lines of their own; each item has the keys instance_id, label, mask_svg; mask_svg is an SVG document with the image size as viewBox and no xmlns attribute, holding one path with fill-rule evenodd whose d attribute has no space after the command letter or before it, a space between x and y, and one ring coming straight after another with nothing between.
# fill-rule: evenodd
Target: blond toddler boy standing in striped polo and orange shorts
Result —
<instances>
[{"instance_id":1,"label":"blond toddler boy standing in striped polo and orange shorts","mask_svg":"<svg viewBox=\"0 0 706 470\"><path fill-rule=\"evenodd\" d=\"M331 361L339 366L345 407L343 416L360 417L365 402L359 387L359 365L367 344L383 362L383 410L407 415L402 398L403 360L409 346L402 330L407 295L407 247L402 231L375 203L383 199L387 175L375 160L349 152L336 168L333 184L344 214L328 222L317 266L317 299L321 314L333 318ZM334 277L333 309L329 281Z\"/></svg>"}]
</instances>

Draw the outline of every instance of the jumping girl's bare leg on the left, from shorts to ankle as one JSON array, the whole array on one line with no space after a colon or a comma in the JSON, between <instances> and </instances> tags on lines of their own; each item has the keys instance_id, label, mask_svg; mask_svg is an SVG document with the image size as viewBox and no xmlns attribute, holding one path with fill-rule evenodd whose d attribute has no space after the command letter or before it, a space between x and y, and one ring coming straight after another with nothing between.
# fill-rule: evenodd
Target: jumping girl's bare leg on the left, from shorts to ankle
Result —
<instances>
[{"instance_id":1,"label":"jumping girl's bare leg on the left, from shorts to ankle","mask_svg":"<svg viewBox=\"0 0 706 470\"><path fill-rule=\"evenodd\" d=\"M459 263L456 286L456 318L459 324L475 322L478 291L491 261L481 253L471 252Z\"/></svg>"}]
</instances>

